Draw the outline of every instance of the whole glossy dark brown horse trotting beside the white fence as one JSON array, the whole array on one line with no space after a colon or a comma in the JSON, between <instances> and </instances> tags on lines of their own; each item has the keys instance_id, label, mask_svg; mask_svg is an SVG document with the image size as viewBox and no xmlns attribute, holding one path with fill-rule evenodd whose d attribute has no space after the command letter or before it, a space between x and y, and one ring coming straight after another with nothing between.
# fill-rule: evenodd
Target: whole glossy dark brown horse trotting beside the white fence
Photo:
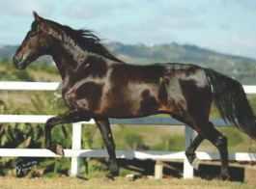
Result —
<instances>
[{"instance_id":1,"label":"whole glossy dark brown horse trotting beside the white fence","mask_svg":"<svg viewBox=\"0 0 256 189\"><path fill-rule=\"evenodd\" d=\"M187 159L193 162L195 149L208 139L219 150L222 178L228 178L227 139L209 121L213 100L226 121L255 139L255 117L238 81L194 65L128 65L109 53L91 31L73 30L36 13L34 16L31 30L14 55L14 65L25 68L42 55L52 56L70 108L67 114L46 122L46 148L63 153L61 146L51 144L54 125L94 119L109 154L110 172L118 175L108 119L163 113L197 131L185 150Z\"/></svg>"}]
</instances>

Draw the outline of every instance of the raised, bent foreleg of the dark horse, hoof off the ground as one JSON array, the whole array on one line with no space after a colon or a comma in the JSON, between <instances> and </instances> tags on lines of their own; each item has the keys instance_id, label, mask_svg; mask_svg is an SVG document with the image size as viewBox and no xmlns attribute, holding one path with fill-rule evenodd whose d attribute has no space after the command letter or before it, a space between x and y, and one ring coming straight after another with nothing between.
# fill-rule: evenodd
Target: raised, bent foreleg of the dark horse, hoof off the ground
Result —
<instances>
[{"instance_id":1,"label":"raised, bent foreleg of the dark horse, hoof off the ground","mask_svg":"<svg viewBox=\"0 0 256 189\"><path fill-rule=\"evenodd\" d=\"M63 148L60 145L52 145L51 144L51 130L52 128L61 123L71 123L76 121L89 121L90 118L86 117L86 114L77 112L77 111L71 111L67 112L66 114L59 115L56 117L52 117L45 123L45 148L48 148L52 150L53 152L63 155Z\"/></svg>"}]
</instances>

